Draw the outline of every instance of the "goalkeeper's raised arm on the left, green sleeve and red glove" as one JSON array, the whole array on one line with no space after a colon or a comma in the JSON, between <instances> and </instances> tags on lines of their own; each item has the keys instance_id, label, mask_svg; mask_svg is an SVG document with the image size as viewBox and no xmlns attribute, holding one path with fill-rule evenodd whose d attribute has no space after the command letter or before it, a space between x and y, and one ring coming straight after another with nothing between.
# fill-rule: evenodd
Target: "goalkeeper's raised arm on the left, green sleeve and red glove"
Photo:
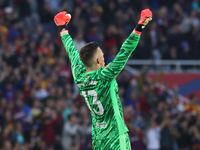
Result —
<instances>
[{"instance_id":1,"label":"goalkeeper's raised arm on the left, green sleeve and red glove","mask_svg":"<svg viewBox=\"0 0 200 150\"><path fill-rule=\"evenodd\" d=\"M69 60L71 63L71 68L72 68L72 74L76 82L77 77L83 72L85 72L86 69L82 61L80 60L79 52L76 49L74 42L68 33L68 30L65 29L70 19L71 19L71 15L67 14L67 12L65 11L58 13L54 17L54 21L60 29L61 39L62 39L63 45L65 46L65 50L68 53Z\"/></svg>"}]
</instances>

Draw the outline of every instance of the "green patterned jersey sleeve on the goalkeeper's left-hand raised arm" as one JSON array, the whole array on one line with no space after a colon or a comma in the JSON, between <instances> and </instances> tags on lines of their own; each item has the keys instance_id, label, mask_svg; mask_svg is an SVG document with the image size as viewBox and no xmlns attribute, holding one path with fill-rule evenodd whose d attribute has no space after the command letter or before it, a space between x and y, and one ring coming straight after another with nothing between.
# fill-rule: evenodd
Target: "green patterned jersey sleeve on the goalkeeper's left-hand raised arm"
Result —
<instances>
[{"instance_id":1,"label":"green patterned jersey sleeve on the goalkeeper's left-hand raised arm","mask_svg":"<svg viewBox=\"0 0 200 150\"><path fill-rule=\"evenodd\" d=\"M80 60L79 52L76 49L74 42L71 38L71 36L68 33L61 34L61 39L63 42L63 45L65 46L65 50L68 53L69 60L71 63L72 68L72 74L74 77L74 81L76 82L76 79L78 76L86 71L82 61Z\"/></svg>"}]
</instances>

